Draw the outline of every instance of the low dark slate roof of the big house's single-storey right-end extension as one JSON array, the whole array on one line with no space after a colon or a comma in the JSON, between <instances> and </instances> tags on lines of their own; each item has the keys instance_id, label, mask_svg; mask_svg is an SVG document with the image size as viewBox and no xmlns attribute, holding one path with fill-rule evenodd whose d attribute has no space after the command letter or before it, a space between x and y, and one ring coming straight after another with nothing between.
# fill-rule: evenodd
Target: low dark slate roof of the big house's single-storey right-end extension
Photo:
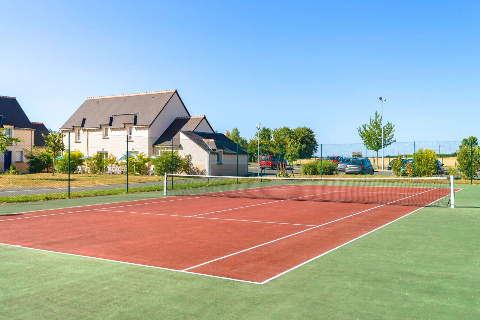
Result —
<instances>
[{"instance_id":1,"label":"low dark slate roof of the big house's single-storey right-end extension","mask_svg":"<svg viewBox=\"0 0 480 320\"><path fill-rule=\"evenodd\" d=\"M181 130L181 133L186 135L205 151L207 150L207 143L205 140L209 140L209 149L215 152L217 149L223 149L224 154L237 154L237 143L230 140L223 133L192 132L184 130ZM239 147L239 154L248 154L248 152Z\"/></svg>"}]
</instances>

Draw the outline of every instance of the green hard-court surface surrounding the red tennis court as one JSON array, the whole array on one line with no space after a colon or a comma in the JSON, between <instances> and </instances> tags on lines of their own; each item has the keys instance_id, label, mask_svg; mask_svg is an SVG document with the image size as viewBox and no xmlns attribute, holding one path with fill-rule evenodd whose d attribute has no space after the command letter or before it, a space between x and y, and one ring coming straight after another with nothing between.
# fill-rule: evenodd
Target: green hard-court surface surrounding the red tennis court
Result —
<instances>
[{"instance_id":1,"label":"green hard-court surface surrounding the red tennis court","mask_svg":"<svg viewBox=\"0 0 480 320\"><path fill-rule=\"evenodd\" d=\"M264 285L0 245L4 319L479 319L479 186ZM3 213L157 193L1 206Z\"/></svg>"}]
</instances>

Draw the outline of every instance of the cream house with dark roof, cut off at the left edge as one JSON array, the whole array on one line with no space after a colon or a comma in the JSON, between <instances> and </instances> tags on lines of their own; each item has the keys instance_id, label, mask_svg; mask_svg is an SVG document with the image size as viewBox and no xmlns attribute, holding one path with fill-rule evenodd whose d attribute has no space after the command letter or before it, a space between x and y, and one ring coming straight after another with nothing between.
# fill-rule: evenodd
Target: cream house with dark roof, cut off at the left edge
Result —
<instances>
[{"instance_id":1,"label":"cream house with dark roof, cut off at the left edge","mask_svg":"<svg viewBox=\"0 0 480 320\"><path fill-rule=\"evenodd\" d=\"M8 171L11 165L19 172L27 172L24 153L34 147L44 147L42 133L48 135L48 129L43 122L31 122L17 98L6 95L0 95L0 127L7 135L21 140L7 147L6 154L0 154L0 172Z\"/></svg>"}]
</instances>

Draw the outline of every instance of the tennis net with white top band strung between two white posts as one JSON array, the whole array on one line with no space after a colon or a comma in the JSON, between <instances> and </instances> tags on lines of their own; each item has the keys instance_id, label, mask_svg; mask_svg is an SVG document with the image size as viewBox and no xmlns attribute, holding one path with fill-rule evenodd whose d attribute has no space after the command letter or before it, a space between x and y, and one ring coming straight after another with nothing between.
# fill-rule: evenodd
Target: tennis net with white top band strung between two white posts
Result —
<instances>
[{"instance_id":1,"label":"tennis net with white top band strung between two white posts","mask_svg":"<svg viewBox=\"0 0 480 320\"><path fill-rule=\"evenodd\" d=\"M453 179L265 178L165 174L165 195L446 206L453 202Z\"/></svg>"}]
</instances>

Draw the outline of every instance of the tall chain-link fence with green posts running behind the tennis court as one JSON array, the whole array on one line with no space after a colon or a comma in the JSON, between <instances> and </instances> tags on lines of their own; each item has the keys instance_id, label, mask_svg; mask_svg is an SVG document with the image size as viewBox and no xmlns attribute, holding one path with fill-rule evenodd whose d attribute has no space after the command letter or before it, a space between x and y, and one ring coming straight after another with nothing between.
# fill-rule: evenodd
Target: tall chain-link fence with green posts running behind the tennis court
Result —
<instances>
[{"instance_id":1,"label":"tall chain-link fence with green posts running behind the tennis court","mask_svg":"<svg viewBox=\"0 0 480 320\"><path fill-rule=\"evenodd\" d=\"M395 142L384 147L382 162L381 149L369 150L362 143L319 143L297 150L291 145L260 143L252 150L213 133L181 131L174 138L158 138L144 132L125 136L120 129L109 130L107 135L98 130L71 131L62 139L63 150L52 152L48 138L46 142L42 136L48 132L15 130L22 142L0 154L0 203L159 191L163 190L164 172L323 177L341 172L337 170L339 157L367 158L376 175L393 175L392 160L399 155L412 166L413 173L406 170L405 175L420 177L425 172L421 171L424 160L419 157L424 157L426 150L430 159L438 160L438 170L430 170L430 176L454 173L473 181L480 171L479 147L460 141ZM306 171L308 166L318 170Z\"/></svg>"}]
</instances>

